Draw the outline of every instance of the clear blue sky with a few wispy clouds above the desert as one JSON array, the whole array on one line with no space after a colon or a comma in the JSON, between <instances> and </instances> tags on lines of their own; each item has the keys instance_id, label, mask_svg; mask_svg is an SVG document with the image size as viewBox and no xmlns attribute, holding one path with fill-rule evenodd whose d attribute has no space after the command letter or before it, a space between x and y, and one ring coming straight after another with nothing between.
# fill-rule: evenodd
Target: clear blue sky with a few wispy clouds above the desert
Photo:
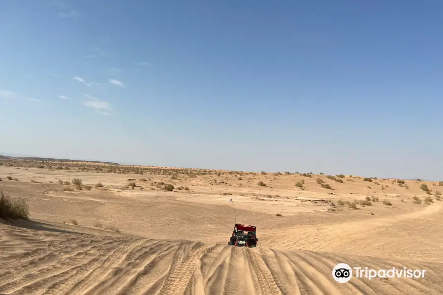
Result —
<instances>
[{"instance_id":1,"label":"clear blue sky with a few wispy clouds above the desert","mask_svg":"<svg viewBox=\"0 0 443 295\"><path fill-rule=\"evenodd\" d=\"M2 0L0 152L443 179L441 0Z\"/></svg>"}]
</instances>

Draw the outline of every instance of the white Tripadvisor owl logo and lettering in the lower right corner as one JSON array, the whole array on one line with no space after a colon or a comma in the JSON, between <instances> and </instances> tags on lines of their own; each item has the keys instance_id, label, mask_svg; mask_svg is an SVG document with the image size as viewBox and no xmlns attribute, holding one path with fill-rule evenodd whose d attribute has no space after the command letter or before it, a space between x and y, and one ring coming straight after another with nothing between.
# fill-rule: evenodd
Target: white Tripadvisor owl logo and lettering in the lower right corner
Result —
<instances>
[{"instance_id":1,"label":"white Tripadvisor owl logo and lettering in the lower right corner","mask_svg":"<svg viewBox=\"0 0 443 295\"><path fill-rule=\"evenodd\" d=\"M332 269L332 277L339 283L347 283L352 277L352 269L356 278L368 280L374 278L424 278L426 272L426 269L407 269L406 267L377 270L361 266L350 267L346 263L339 263Z\"/></svg>"}]
</instances>

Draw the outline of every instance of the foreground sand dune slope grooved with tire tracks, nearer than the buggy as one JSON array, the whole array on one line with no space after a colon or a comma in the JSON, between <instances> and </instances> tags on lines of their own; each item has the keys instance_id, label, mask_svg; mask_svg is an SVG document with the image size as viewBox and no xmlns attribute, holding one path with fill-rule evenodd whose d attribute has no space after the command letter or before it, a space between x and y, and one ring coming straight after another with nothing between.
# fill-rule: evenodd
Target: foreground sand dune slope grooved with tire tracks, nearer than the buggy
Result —
<instances>
[{"instance_id":1,"label":"foreground sand dune slope grooved with tire tracks, nearer than the buggy","mask_svg":"<svg viewBox=\"0 0 443 295\"><path fill-rule=\"evenodd\" d=\"M2 234L15 247L0 247L2 294L443 294L443 264L435 262L14 228ZM353 277L339 284L332 279L339 262L428 272L420 279Z\"/></svg>"}]
</instances>

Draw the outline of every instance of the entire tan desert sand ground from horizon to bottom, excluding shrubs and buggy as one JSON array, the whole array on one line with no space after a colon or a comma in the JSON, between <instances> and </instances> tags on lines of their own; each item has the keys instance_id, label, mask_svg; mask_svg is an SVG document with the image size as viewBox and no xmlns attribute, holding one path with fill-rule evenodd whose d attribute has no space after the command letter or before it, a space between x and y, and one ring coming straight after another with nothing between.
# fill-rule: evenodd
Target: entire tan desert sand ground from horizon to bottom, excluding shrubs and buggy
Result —
<instances>
[{"instance_id":1,"label":"entire tan desert sand ground from horizon to bottom, excluding shrubs and buggy","mask_svg":"<svg viewBox=\"0 0 443 295\"><path fill-rule=\"evenodd\" d=\"M0 223L1 294L443 294L439 182L1 163L0 188L30 208L30 220ZM59 183L73 178L82 189ZM355 209L339 202L366 197L379 201ZM257 226L256 248L227 245L235 222ZM338 263L427 272L340 284Z\"/></svg>"}]
</instances>

